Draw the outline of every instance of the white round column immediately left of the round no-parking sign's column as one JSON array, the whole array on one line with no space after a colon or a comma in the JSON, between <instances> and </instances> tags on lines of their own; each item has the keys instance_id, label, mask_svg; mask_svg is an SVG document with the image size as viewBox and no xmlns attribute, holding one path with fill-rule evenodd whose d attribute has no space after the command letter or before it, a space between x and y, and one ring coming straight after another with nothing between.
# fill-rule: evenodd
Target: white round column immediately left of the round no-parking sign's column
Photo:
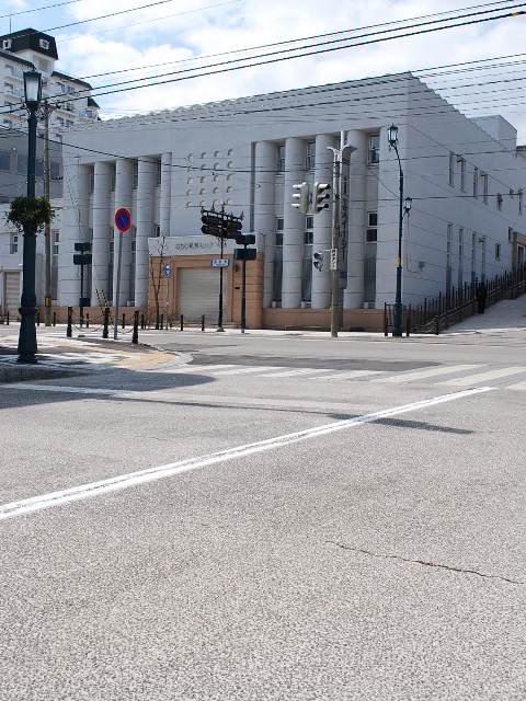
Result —
<instances>
[{"instance_id":1,"label":"white round column immediately left of the round no-parking sign's column","mask_svg":"<svg viewBox=\"0 0 526 701\"><path fill-rule=\"evenodd\" d=\"M104 297L110 301L113 292L113 280L107 279L110 262L110 240L112 233L110 212L110 191L112 185L113 163L96 161L94 165L93 187L93 260L92 260L92 295L96 292L101 303ZM99 301L99 300L96 300ZM95 303L95 299L93 299Z\"/></svg>"}]
</instances>

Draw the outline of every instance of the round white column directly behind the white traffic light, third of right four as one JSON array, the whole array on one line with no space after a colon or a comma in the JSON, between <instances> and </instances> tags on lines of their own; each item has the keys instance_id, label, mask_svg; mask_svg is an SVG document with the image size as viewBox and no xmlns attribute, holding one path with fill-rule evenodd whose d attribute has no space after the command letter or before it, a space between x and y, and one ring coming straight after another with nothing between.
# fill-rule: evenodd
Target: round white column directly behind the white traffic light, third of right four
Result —
<instances>
[{"instance_id":1,"label":"round white column directly behind the white traffic light, third of right four","mask_svg":"<svg viewBox=\"0 0 526 701\"><path fill-rule=\"evenodd\" d=\"M316 165L315 182L329 183L331 185L332 197L332 169L334 154L329 147L334 147L334 137L328 134L320 134L316 137ZM332 248L332 209L324 209L315 215L315 241L312 252L323 253L323 269L312 269L312 309L329 309L331 304L331 255Z\"/></svg>"}]
</instances>

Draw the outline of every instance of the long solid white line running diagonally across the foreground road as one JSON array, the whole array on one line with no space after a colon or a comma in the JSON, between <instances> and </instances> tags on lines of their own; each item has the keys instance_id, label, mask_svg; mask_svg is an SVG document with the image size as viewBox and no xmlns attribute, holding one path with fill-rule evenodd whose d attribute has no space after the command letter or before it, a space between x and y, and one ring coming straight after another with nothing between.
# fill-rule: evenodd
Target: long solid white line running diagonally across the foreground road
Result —
<instances>
[{"instance_id":1,"label":"long solid white line running diagonally across the foreground road","mask_svg":"<svg viewBox=\"0 0 526 701\"><path fill-rule=\"evenodd\" d=\"M60 506L70 502L100 496L101 494L108 494L110 492L116 492L117 490L128 489L138 484L146 484L148 482L153 482L155 480L170 478L175 474L181 474L191 470L197 470L210 464L226 462L227 460L235 460L258 452L264 452L266 450L284 448L301 440L318 438L319 436L332 434L338 430L354 428L363 424L370 424L382 418L389 418L390 416L398 416L400 414L407 414L409 412L419 411L421 409L427 409L428 406L435 406L436 404L454 402L459 399L472 397L473 394L489 392L493 388L491 387L480 387L478 389L465 390L462 392L454 392L453 394L434 397L432 399L422 400L420 402L412 402L411 404L392 406L391 409L385 409L373 414L365 414L363 416L356 416L355 418L346 418L343 421L334 422L332 424L318 426L316 428L297 430L291 434L276 436L275 438L267 438L266 440L259 440L258 443L238 446L237 448L229 448L228 450L220 450L218 452L213 452L206 456L191 458L190 460L171 462L169 464L162 464L157 468L149 468L139 472L130 472L128 474L121 474L116 478L110 478L108 480L102 480L100 482L92 482L91 484L82 484L80 486L73 486L68 490L52 492L50 494L43 494L41 496L20 499L19 502L11 502L10 504L3 504L2 506L0 506L0 520L13 518L14 516L22 516L23 514L28 514L30 512L38 512L45 508L50 508L52 506Z\"/></svg>"}]
</instances>

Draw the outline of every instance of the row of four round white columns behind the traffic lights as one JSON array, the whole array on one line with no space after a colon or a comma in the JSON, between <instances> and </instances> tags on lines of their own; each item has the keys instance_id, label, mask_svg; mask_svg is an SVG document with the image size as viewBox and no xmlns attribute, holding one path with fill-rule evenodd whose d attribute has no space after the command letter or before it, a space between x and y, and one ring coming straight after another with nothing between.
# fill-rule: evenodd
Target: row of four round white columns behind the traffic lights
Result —
<instances>
[{"instance_id":1,"label":"row of four round white columns behind the traffic lights","mask_svg":"<svg viewBox=\"0 0 526 701\"><path fill-rule=\"evenodd\" d=\"M332 186L333 151L340 139L322 134L316 137L315 182L328 182ZM345 309L361 308L364 299L364 257L366 230L366 163L368 135L353 130L347 133L347 143L356 148L351 156L347 195L347 287L344 291ZM264 307L271 307L273 297L273 261L275 257L276 218L283 217L283 284L282 308L297 309L301 302L301 275L304 260L305 215L293 208L293 186L306 179L306 140L291 137L285 140L285 173L283 199L277 192L277 145L258 141L254 169L254 230L265 233ZM283 208L282 208L283 207ZM329 260L332 244L332 207L313 218L313 251L324 251ZM328 309L331 303L331 276L325 271L313 271L311 308Z\"/></svg>"}]
</instances>

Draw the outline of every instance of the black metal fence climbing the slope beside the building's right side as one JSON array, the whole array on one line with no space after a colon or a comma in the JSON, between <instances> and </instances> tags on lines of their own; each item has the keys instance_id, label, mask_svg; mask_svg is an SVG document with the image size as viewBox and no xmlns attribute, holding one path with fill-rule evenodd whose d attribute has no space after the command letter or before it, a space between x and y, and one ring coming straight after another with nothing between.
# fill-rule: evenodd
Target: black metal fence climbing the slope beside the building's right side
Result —
<instances>
[{"instance_id":1,"label":"black metal fence climbing the slope beside the building's right side","mask_svg":"<svg viewBox=\"0 0 526 701\"><path fill-rule=\"evenodd\" d=\"M473 314L483 313L490 304L503 299L514 299L526 292L526 265L496 275L492 279L479 283L478 279L470 285L455 288L438 297L424 299L422 304L403 308L403 331L410 333L434 333L448 329L450 325L462 321ZM384 312L384 333L392 331L393 304L386 304Z\"/></svg>"}]
</instances>

